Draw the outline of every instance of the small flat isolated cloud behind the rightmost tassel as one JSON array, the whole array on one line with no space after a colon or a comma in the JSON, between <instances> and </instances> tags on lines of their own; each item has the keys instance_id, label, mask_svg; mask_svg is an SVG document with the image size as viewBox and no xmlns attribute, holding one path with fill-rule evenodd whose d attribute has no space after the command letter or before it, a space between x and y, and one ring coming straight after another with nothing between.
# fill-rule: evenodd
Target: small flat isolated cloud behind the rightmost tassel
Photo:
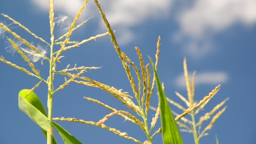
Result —
<instances>
[{"instance_id":1,"label":"small flat isolated cloud behind the rightmost tassel","mask_svg":"<svg viewBox=\"0 0 256 144\"><path fill-rule=\"evenodd\" d=\"M189 75L189 77L192 82L192 73ZM226 83L228 79L229 75L226 72L198 72L195 75L195 85L219 85ZM175 84L181 88L186 87L184 74L176 77Z\"/></svg>"}]
</instances>

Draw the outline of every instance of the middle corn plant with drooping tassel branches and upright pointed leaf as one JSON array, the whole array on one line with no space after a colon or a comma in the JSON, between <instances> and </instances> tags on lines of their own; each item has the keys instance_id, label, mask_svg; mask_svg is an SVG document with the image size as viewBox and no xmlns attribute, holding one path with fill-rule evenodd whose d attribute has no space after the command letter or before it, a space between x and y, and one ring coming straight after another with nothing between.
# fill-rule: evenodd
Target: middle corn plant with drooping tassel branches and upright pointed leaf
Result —
<instances>
[{"instance_id":1,"label":"middle corn plant with drooping tassel branches and upright pointed leaf","mask_svg":"<svg viewBox=\"0 0 256 144\"><path fill-rule=\"evenodd\" d=\"M119 100L122 104L124 104L128 109L131 109L134 111L137 115L132 115L127 110L118 110L115 109L107 104L104 104L103 102L92 99L89 97L84 97L84 99L87 99L89 101L92 101L96 104L99 104L110 111L108 115L105 115L101 120L98 122L92 122L87 120L81 120L77 118L65 118L65 117L56 117L53 118L53 120L62 120L62 121L69 121L69 122L77 122L77 123L85 123L88 125L95 125L97 127L101 127L104 129L107 129L125 139L132 140L138 144L152 144L152 139L157 133L163 133L163 143L164 144L183 144L179 130L177 128L178 120L182 120L183 117L190 112L193 112L196 108L202 107L203 104L206 104L212 96L218 91L220 85L218 85L216 88L213 89L211 93L209 93L208 96L205 96L203 100L200 101L198 104L191 105L191 107L188 107L187 109L183 108L183 113L181 115L176 115L176 118L173 117L173 114L169 108L168 105L168 98L166 99L165 93L163 90L163 85L161 85L159 77L157 76L157 64L159 61L159 53L160 53L160 37L158 37L157 41L157 52L155 55L155 64L152 62L152 59L149 58L152 62L152 67L154 69L154 75L152 77L152 74L149 71L149 64L144 64L144 60L142 57L142 54L140 53L140 50L138 47L135 48L137 55L139 57L139 67L136 67L134 62L125 54L123 53L118 44L115 37L115 34L110 27L110 24L107 21L106 16L104 15L101 6L99 5L99 2L95 0L95 3L97 5L97 8L99 9L99 12L101 13L102 19L104 20L104 23L106 24L107 30L109 32L109 36L111 37L112 43L115 47L115 51L117 52L117 55L119 56L121 63L123 65L123 68L125 69L126 75L128 77L128 80L130 82L133 96L135 97L135 102L131 99L132 96L128 95L128 93L123 92L122 89L118 90L117 88L111 87L109 85L105 85L103 83L100 83L95 80L91 80L88 77L77 77L80 80L72 80L75 83L92 86L96 88L101 88L102 90L106 91L107 93L111 93L112 96L114 96L117 100ZM138 80L138 83L135 83L135 78L131 75L131 68L135 71L136 79ZM69 75L67 75L69 76ZM152 96L153 88L155 83L157 84L157 91L159 96L159 106L157 107L155 117L149 118L148 110L150 108L150 99ZM194 87L193 87L194 88ZM172 103L171 103L172 104ZM141 127L141 130L145 133L147 136L147 140L144 140L144 142L139 141L138 138L133 138L128 135L126 132L121 132L120 130L117 130L115 128L108 127L104 124L104 122L114 115L120 115L125 120L130 121L131 123L134 123L136 125L139 125ZM157 123L158 117L161 115L161 124L162 127L158 128L157 131L152 131L155 127L155 124ZM140 119L142 118L143 121ZM151 120L152 119L152 120ZM149 120L151 120L149 125ZM175 122L176 121L176 122Z\"/></svg>"}]
</instances>

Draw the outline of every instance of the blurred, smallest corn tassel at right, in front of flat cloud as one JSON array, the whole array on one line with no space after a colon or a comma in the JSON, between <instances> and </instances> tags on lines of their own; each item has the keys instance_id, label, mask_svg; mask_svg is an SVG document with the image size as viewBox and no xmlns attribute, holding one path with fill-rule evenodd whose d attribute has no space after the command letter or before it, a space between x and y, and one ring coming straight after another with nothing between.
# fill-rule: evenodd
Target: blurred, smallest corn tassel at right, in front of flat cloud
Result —
<instances>
[{"instance_id":1,"label":"blurred, smallest corn tassel at right, in front of flat cloud","mask_svg":"<svg viewBox=\"0 0 256 144\"><path fill-rule=\"evenodd\" d=\"M199 144L199 140L203 136L207 136L208 133L206 131L210 130L213 127L213 124L216 122L216 120L223 114L223 112L226 110L227 106L219 110L229 98L225 99L224 101L221 101L221 103L217 104L210 112L206 112L203 116L199 118L199 120L195 121L195 115L199 114L200 111L203 111L203 108L205 105L215 96L215 94L219 91L220 85L218 85L211 93L208 94L208 96L205 96L201 101L197 102L194 99L195 96L195 72L192 76L192 83L189 78L188 70L187 70L187 60L184 59L183 61L184 66L184 77L186 79L186 87L187 87L187 99L182 96L179 92L175 92L176 96L178 96L186 105L187 108L183 107L181 104L176 103L175 101L171 100L167 97L167 101L172 104L173 106L179 108L182 112L187 111L187 109L192 109L192 111L189 113L190 119L187 117L181 117L181 121L177 121L177 125L179 125L180 128L182 128L180 131L192 133L194 136L195 144ZM207 100L206 100L207 99ZM150 107L151 109L157 111L155 107ZM196 108L196 109L195 109ZM217 110L215 115L213 115ZM178 113L173 112L174 115L179 116ZM211 122L202 130L202 124L203 122L209 120L210 118ZM218 139L216 137L216 143L218 142Z\"/></svg>"}]
</instances>

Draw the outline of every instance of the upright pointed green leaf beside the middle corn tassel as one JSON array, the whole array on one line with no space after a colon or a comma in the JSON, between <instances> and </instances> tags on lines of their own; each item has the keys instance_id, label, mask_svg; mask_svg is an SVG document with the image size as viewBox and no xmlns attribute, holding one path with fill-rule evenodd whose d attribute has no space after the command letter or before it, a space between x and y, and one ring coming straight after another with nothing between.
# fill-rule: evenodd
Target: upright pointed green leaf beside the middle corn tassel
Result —
<instances>
[{"instance_id":1,"label":"upright pointed green leaf beside the middle corn tassel","mask_svg":"<svg viewBox=\"0 0 256 144\"><path fill-rule=\"evenodd\" d=\"M162 134L163 134L163 143L164 144L183 144L181 134L179 132L179 128L176 125L173 114L167 102L165 92L160 83L159 77L157 75L157 71L155 69L155 64L152 59L149 57L151 61L152 67L154 69L157 91L158 91L158 99L160 102L160 117L162 124Z\"/></svg>"}]
</instances>

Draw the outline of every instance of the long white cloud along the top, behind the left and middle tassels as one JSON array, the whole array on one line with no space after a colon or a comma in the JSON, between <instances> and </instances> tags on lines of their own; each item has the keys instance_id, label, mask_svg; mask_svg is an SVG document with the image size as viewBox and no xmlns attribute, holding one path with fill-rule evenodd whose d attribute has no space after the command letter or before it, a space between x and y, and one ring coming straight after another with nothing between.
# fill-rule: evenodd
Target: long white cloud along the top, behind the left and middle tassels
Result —
<instances>
[{"instance_id":1,"label":"long white cloud along the top, behind the left and middle tassels","mask_svg":"<svg viewBox=\"0 0 256 144\"><path fill-rule=\"evenodd\" d=\"M135 33L130 29L136 24L143 23L148 18L160 19L168 16L168 10L173 0L100 0L101 7L116 33L121 44L135 39ZM48 11L48 0L32 0L43 11ZM74 17L83 4L83 0L54 0L54 9L61 14ZM87 17L99 16L99 11L93 0L83 12ZM87 18L85 18L87 19ZM99 16L101 30L105 25ZM97 28L96 28L97 29ZM119 32L117 32L117 30Z\"/></svg>"}]
</instances>

